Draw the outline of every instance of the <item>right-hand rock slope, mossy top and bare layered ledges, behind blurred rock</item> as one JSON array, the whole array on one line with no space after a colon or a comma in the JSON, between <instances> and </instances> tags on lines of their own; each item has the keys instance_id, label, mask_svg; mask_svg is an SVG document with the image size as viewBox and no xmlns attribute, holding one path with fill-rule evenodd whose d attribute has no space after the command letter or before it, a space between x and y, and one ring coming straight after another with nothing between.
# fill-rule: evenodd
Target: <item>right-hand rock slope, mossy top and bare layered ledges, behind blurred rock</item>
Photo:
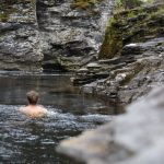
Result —
<instances>
[{"instance_id":1,"label":"right-hand rock slope, mossy top and bare layered ledges, behind blurred rock","mask_svg":"<svg viewBox=\"0 0 164 164\"><path fill-rule=\"evenodd\" d=\"M124 104L164 84L163 8L161 3L114 14L95 61L99 68L81 68L85 72L77 71L74 84L90 83L84 93L92 87L94 94Z\"/></svg>"}]
</instances>

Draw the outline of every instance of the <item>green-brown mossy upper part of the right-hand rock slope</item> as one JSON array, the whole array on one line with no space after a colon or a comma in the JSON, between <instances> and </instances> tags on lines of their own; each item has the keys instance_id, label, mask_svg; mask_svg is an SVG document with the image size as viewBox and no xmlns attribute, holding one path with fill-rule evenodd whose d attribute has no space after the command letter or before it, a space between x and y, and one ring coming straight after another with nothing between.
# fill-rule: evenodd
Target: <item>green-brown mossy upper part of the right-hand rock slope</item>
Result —
<instances>
[{"instance_id":1,"label":"green-brown mossy upper part of the right-hand rock slope","mask_svg":"<svg viewBox=\"0 0 164 164\"><path fill-rule=\"evenodd\" d=\"M164 4L115 12L106 26L99 58L121 55L126 44L145 42L164 34Z\"/></svg>"}]
</instances>

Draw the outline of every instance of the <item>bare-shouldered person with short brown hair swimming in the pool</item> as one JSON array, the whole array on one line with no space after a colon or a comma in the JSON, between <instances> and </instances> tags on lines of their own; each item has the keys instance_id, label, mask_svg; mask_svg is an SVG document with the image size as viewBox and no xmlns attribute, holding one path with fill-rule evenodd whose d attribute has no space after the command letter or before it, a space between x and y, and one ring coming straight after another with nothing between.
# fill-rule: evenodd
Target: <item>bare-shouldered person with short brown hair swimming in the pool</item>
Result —
<instances>
[{"instance_id":1,"label":"bare-shouldered person with short brown hair swimming in the pool","mask_svg":"<svg viewBox=\"0 0 164 164\"><path fill-rule=\"evenodd\" d=\"M39 118L47 114L47 109L40 105L37 105L38 93L35 91L30 91L26 94L28 105L25 107L21 107L19 110L26 115L30 118Z\"/></svg>"}]
</instances>

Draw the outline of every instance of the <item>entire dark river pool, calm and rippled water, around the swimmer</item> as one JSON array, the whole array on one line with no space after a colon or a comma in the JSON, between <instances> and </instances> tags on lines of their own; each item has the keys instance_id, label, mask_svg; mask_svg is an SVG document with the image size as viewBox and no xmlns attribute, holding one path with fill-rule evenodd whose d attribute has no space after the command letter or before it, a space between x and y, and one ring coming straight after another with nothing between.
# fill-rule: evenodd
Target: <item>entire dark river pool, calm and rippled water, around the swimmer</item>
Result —
<instances>
[{"instance_id":1,"label":"entire dark river pool, calm and rippled water, around the swimmer","mask_svg":"<svg viewBox=\"0 0 164 164\"><path fill-rule=\"evenodd\" d=\"M79 94L69 78L0 72L0 163L74 164L56 152L59 141L112 119L114 108ZM40 93L47 117L32 120L17 112L30 90Z\"/></svg>"}]
</instances>

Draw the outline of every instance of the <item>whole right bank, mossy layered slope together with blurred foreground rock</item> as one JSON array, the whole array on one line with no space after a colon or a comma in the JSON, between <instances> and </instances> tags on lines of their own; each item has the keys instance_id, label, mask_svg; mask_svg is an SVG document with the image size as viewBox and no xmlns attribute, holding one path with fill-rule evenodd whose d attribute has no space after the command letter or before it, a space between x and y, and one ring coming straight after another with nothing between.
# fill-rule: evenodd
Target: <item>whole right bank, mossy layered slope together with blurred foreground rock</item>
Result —
<instances>
[{"instance_id":1,"label":"whole right bank, mossy layered slope together with blurred foreground rock","mask_svg":"<svg viewBox=\"0 0 164 164\"><path fill-rule=\"evenodd\" d=\"M87 164L161 164L164 112L164 3L115 13L99 59L71 78L84 94L106 96L127 113L60 142L57 151Z\"/></svg>"}]
</instances>

